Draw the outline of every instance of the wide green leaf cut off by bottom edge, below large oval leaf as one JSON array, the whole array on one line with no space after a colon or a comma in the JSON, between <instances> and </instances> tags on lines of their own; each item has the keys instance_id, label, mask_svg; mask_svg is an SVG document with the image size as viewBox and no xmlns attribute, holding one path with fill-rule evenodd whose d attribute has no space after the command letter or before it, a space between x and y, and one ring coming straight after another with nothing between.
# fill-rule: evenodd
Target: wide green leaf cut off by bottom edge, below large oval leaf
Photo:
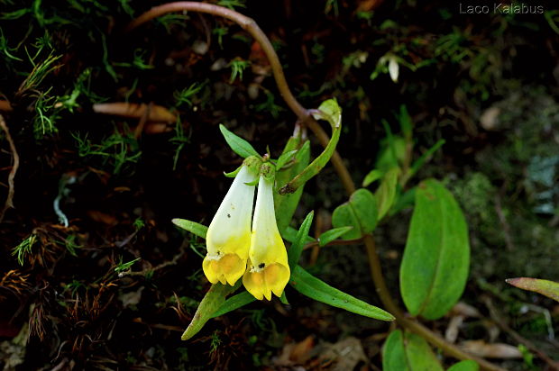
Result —
<instances>
[{"instance_id":1,"label":"wide green leaf cut off by bottom edge, below large oval leaf","mask_svg":"<svg viewBox=\"0 0 559 371\"><path fill-rule=\"evenodd\" d=\"M395 330L382 348L382 371L443 371L443 366L425 339Z\"/></svg>"}]
</instances>

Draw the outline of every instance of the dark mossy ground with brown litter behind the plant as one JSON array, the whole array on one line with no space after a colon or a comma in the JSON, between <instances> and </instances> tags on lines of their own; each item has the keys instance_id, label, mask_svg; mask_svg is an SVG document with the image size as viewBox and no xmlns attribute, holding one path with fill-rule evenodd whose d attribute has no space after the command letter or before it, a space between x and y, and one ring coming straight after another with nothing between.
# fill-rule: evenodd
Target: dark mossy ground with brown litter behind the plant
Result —
<instances>
[{"instance_id":1,"label":"dark mossy ground with brown litter behind the plant","mask_svg":"<svg viewBox=\"0 0 559 371\"><path fill-rule=\"evenodd\" d=\"M0 365L279 369L282 348L311 336L316 347L310 339L299 343L308 357L296 357L309 368L332 366L320 357L327 354L325 342L348 337L357 338L367 356L360 366L380 366L387 325L291 292L289 307L253 303L209 322L194 341L179 340L208 283L200 270L203 244L170 220L207 224L225 195L230 180L223 171L240 159L226 147L218 123L277 155L295 122L273 79L262 77L268 66L249 35L198 14L123 32L151 2L22 3L2 2L0 16L0 93L13 107L3 114L21 161L15 209L0 224ZM493 303L500 321L558 357L541 312L550 311L553 321L557 307L504 284L511 276L559 279L556 5L537 3L546 15L468 15L444 1L386 3L248 1L237 9L270 36L302 104L316 107L334 96L344 107L338 149L357 183L385 136L380 121L398 131L401 104L415 124L417 156L446 140L419 178L444 179L471 227L472 275L463 300L482 317L467 320L458 341L518 345L507 331L493 330ZM382 71L371 79L387 54L399 58L399 83ZM57 68L30 81L30 74L39 77L33 66L49 56L60 56L50 65ZM232 61L251 62L242 79L231 78ZM26 77L30 83L22 87ZM180 94L188 87L199 89ZM93 113L92 104L125 100L172 109L179 123L164 130L146 125L135 137L138 119ZM12 156L1 135L0 182L6 185ZM320 150L317 144L313 150ZM4 203L7 188L0 189ZM57 196L68 227L55 213ZM326 228L344 199L326 167L307 185L298 222L314 209L325 215ZM377 231L396 297L407 228L398 218ZM20 265L14 248L30 238ZM362 247L325 249L313 269L379 304ZM447 324L430 326L444 332ZM520 359L502 366L544 368L537 359L534 364Z\"/></svg>"}]
</instances>

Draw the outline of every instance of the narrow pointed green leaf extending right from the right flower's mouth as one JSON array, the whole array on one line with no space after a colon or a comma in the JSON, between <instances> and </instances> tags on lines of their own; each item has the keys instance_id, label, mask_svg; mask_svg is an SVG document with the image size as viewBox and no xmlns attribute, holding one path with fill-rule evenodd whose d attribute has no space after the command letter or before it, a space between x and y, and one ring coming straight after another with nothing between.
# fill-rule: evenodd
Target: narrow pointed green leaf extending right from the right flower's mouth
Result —
<instances>
[{"instance_id":1,"label":"narrow pointed green leaf extending right from the right flower's mouth","mask_svg":"<svg viewBox=\"0 0 559 371\"><path fill-rule=\"evenodd\" d=\"M380 321L394 321L394 316L389 312L362 302L350 294L327 285L324 281L310 275L305 269L296 266L291 271L289 285L293 286L299 293L304 294L317 302L326 303L348 312L360 314L365 317Z\"/></svg>"}]
</instances>

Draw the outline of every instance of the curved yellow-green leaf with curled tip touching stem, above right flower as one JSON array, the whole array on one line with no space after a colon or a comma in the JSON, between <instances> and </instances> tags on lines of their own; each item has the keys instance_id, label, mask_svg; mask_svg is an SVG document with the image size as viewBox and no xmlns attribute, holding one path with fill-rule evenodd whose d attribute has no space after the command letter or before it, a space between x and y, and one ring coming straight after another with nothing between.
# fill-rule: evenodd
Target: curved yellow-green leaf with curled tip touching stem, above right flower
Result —
<instances>
[{"instance_id":1,"label":"curved yellow-green leaf with curled tip touching stem, above right flower","mask_svg":"<svg viewBox=\"0 0 559 371\"><path fill-rule=\"evenodd\" d=\"M316 113L313 114L316 119L323 119L330 122L332 126L332 137L323 152L315 158L298 176L295 176L288 184L280 188L280 195L292 194L301 185L307 183L308 179L316 176L320 170L328 163L334 154L335 146L340 140L340 132L342 131L342 108L338 105L335 99L328 99L320 104Z\"/></svg>"}]
</instances>

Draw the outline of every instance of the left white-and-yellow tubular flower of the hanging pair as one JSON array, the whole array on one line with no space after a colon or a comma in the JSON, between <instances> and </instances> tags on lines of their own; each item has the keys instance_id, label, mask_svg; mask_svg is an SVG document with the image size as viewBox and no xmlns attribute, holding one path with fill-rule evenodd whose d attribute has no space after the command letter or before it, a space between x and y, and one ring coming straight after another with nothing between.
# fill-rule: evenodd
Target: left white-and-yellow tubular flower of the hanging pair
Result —
<instances>
[{"instance_id":1,"label":"left white-and-yellow tubular flower of the hanging pair","mask_svg":"<svg viewBox=\"0 0 559 371\"><path fill-rule=\"evenodd\" d=\"M235 176L206 234L202 267L209 282L234 285L246 270L251 245L252 202L256 175L244 165Z\"/></svg>"}]
</instances>

